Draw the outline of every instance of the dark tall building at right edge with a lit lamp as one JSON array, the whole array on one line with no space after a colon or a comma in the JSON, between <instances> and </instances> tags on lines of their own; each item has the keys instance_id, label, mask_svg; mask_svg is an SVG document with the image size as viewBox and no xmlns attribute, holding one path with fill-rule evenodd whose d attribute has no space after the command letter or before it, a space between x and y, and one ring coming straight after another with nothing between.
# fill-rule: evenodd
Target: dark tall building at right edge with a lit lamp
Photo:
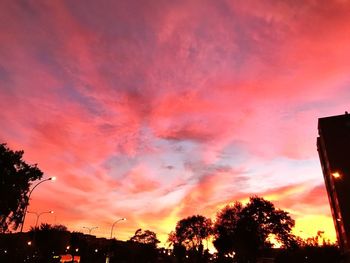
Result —
<instances>
[{"instance_id":1,"label":"dark tall building at right edge with a lit lamp","mask_svg":"<svg viewBox=\"0 0 350 263\"><path fill-rule=\"evenodd\" d=\"M338 244L350 251L350 115L318 120L317 150L331 206Z\"/></svg>"}]
</instances>

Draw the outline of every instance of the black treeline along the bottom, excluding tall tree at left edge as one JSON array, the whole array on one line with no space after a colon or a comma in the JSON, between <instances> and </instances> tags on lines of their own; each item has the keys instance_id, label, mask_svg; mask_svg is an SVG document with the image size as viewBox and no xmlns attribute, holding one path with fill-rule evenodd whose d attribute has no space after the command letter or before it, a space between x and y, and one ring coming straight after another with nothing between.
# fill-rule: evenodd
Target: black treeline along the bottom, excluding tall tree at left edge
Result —
<instances>
[{"instance_id":1,"label":"black treeline along the bottom, excluding tall tree at left edge","mask_svg":"<svg viewBox=\"0 0 350 263\"><path fill-rule=\"evenodd\" d=\"M322 233L302 240L291 233L293 219L260 197L221 209L215 220L194 215L177 222L169 234L172 249L158 248L157 234L138 229L128 241L70 232L41 224L27 233L0 234L0 262L62 262L71 256L84 263L338 263L339 249L320 242ZM217 253L209 253L213 242ZM278 243L281 248L273 248ZM321 245L320 245L321 244Z\"/></svg>"}]
</instances>

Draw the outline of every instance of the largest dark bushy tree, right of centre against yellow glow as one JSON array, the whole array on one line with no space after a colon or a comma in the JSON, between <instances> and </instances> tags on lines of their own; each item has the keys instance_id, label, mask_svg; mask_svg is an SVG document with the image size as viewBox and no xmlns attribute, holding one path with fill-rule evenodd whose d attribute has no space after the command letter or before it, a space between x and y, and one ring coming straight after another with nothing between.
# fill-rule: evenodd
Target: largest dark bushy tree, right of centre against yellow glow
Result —
<instances>
[{"instance_id":1,"label":"largest dark bushy tree, right of centre against yellow glow","mask_svg":"<svg viewBox=\"0 0 350 263\"><path fill-rule=\"evenodd\" d=\"M246 206L236 202L219 211L214 246L221 256L234 252L237 262L255 262L259 253L272 247L271 236L284 247L296 246L293 227L287 212L263 198L251 197Z\"/></svg>"}]
</instances>

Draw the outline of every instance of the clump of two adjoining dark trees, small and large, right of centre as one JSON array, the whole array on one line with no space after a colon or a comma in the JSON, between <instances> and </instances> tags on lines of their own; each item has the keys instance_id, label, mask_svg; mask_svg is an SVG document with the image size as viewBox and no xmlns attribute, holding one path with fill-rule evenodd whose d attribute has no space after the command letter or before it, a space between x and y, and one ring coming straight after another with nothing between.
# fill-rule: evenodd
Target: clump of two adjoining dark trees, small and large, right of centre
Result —
<instances>
[{"instance_id":1,"label":"clump of two adjoining dark trees, small and large, right of centre","mask_svg":"<svg viewBox=\"0 0 350 263\"><path fill-rule=\"evenodd\" d=\"M246 205L227 205L217 213L214 223L200 215L180 220L169 242L175 250L202 257L203 240L211 238L220 261L234 258L236 262L256 262L273 242L286 249L298 247L300 240L291 233L294 224L287 212L255 196Z\"/></svg>"}]
</instances>

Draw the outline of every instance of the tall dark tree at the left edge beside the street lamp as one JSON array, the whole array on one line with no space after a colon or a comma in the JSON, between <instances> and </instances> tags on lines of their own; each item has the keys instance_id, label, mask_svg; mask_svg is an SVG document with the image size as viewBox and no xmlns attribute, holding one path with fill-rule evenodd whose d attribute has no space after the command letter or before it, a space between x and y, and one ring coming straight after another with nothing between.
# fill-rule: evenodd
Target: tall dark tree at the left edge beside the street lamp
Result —
<instances>
[{"instance_id":1,"label":"tall dark tree at the left edge beside the street lamp","mask_svg":"<svg viewBox=\"0 0 350 263\"><path fill-rule=\"evenodd\" d=\"M0 232L16 230L28 204L31 182L41 179L37 165L22 160L23 151L12 151L0 144Z\"/></svg>"}]
</instances>

